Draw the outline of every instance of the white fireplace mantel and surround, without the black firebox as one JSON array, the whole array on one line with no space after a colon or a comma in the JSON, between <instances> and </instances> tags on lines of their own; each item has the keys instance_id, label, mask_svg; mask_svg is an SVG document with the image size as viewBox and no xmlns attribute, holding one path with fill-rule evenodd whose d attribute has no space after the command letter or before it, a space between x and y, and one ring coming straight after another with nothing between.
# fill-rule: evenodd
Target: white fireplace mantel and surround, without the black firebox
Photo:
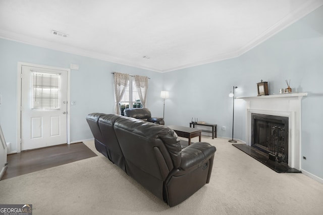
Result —
<instances>
[{"instance_id":1,"label":"white fireplace mantel and surround, without the black firebox","mask_svg":"<svg viewBox=\"0 0 323 215\"><path fill-rule=\"evenodd\" d=\"M251 114L288 117L288 166L300 170L301 161L301 99L307 93L238 97L246 101L246 145L251 146Z\"/></svg>"}]
</instances>

